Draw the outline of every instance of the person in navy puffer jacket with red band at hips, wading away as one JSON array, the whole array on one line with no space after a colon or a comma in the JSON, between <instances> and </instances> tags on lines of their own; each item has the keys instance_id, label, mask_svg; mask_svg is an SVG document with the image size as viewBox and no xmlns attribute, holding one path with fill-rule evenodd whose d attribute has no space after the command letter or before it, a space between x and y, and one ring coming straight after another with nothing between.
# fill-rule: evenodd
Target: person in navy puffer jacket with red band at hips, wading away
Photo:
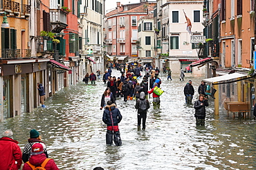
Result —
<instances>
[{"instance_id":1,"label":"person in navy puffer jacket with red band at hips, wading away","mask_svg":"<svg viewBox=\"0 0 256 170\"><path fill-rule=\"evenodd\" d=\"M107 134L106 143L107 145L112 145L115 142L116 146L122 145L122 140L120 138L120 131L118 128L118 123L122 120L122 115L118 108L116 108L115 103L111 100L107 102L107 105L103 112L102 120L107 124Z\"/></svg>"}]
</instances>

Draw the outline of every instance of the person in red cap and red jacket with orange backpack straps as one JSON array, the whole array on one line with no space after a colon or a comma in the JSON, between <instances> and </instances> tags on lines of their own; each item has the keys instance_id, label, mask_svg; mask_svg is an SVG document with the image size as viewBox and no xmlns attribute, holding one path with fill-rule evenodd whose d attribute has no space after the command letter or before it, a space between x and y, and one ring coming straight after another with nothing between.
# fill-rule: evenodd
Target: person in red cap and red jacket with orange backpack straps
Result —
<instances>
[{"instance_id":1,"label":"person in red cap and red jacket with orange backpack straps","mask_svg":"<svg viewBox=\"0 0 256 170\"><path fill-rule=\"evenodd\" d=\"M31 156L28 162L24 164L23 170L32 170L29 164L35 167L39 167L43 164L44 160L46 160L46 155L44 154L43 145L41 143L35 143L31 149ZM48 160L44 168L46 170L59 169L53 159Z\"/></svg>"}]
</instances>

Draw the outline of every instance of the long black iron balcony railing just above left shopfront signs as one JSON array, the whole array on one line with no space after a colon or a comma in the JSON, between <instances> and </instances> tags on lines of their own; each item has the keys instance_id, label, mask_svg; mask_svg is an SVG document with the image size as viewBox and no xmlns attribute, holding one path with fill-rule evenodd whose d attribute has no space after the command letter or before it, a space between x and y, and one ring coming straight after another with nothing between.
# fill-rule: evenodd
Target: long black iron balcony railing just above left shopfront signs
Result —
<instances>
[{"instance_id":1,"label":"long black iron balcony railing just above left shopfront signs","mask_svg":"<svg viewBox=\"0 0 256 170\"><path fill-rule=\"evenodd\" d=\"M31 58L30 49L1 49L2 59Z\"/></svg>"}]
</instances>

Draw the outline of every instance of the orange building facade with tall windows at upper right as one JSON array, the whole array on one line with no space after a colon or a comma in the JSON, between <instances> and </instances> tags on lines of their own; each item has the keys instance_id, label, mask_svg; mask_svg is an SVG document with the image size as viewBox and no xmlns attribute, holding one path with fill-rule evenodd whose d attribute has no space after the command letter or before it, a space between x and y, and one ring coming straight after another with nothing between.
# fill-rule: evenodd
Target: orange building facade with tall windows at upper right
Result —
<instances>
[{"instance_id":1,"label":"orange building facade with tall windows at upper right","mask_svg":"<svg viewBox=\"0 0 256 170\"><path fill-rule=\"evenodd\" d=\"M254 50L255 17L253 0L221 0L220 66L251 67Z\"/></svg>"}]
</instances>

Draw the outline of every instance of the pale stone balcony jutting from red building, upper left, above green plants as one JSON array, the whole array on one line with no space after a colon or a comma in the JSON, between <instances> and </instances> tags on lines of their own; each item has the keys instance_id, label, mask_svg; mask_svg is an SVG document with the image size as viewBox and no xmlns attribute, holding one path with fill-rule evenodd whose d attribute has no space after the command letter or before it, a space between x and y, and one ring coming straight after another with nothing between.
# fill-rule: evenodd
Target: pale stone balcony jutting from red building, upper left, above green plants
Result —
<instances>
[{"instance_id":1,"label":"pale stone balcony jutting from red building, upper left, above green plants","mask_svg":"<svg viewBox=\"0 0 256 170\"><path fill-rule=\"evenodd\" d=\"M53 28L52 32L61 32L68 26L66 23L66 12L63 12L61 9L51 9L50 22Z\"/></svg>"}]
</instances>

